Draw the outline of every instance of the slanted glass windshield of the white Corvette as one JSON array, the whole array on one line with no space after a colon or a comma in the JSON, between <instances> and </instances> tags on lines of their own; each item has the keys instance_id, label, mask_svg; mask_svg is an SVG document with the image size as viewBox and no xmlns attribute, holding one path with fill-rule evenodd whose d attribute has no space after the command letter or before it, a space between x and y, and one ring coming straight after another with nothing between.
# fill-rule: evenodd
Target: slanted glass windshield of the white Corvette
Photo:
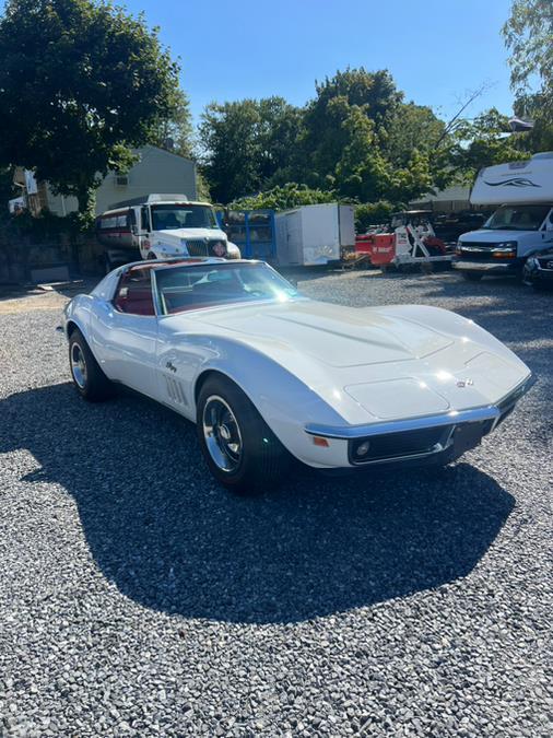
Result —
<instances>
[{"instance_id":1,"label":"slanted glass windshield of the white Corvette","mask_svg":"<svg viewBox=\"0 0 553 738\"><path fill-rule=\"evenodd\" d=\"M266 263L162 267L155 270L155 282L164 315L297 296L297 290Z\"/></svg>"}]
</instances>

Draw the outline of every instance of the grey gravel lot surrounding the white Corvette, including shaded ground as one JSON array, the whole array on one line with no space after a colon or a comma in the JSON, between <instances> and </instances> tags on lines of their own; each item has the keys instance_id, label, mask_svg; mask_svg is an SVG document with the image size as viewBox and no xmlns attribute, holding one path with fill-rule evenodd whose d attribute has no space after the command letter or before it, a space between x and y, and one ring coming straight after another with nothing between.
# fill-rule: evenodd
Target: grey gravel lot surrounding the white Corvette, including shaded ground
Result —
<instances>
[{"instance_id":1,"label":"grey gravel lot surrounding the white Corvette, including shaded ground","mask_svg":"<svg viewBox=\"0 0 553 738\"><path fill-rule=\"evenodd\" d=\"M457 311L539 384L447 469L235 499L178 417L78 399L59 295L0 302L0 735L552 735L553 295L299 286Z\"/></svg>"}]
</instances>

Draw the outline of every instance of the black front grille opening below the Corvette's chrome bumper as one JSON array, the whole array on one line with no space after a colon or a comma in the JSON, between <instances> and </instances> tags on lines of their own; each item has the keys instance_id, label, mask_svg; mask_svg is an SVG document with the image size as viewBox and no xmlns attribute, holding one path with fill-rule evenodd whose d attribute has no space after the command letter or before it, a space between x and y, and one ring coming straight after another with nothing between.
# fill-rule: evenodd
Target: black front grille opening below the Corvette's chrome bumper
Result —
<instances>
[{"instance_id":1,"label":"black front grille opening below the Corvette's chrome bumper","mask_svg":"<svg viewBox=\"0 0 553 738\"><path fill-rule=\"evenodd\" d=\"M431 454L438 444L445 445L451 431L452 425L440 425L439 427L355 438L350 442L350 459L352 464L367 464L402 456Z\"/></svg>"}]
</instances>

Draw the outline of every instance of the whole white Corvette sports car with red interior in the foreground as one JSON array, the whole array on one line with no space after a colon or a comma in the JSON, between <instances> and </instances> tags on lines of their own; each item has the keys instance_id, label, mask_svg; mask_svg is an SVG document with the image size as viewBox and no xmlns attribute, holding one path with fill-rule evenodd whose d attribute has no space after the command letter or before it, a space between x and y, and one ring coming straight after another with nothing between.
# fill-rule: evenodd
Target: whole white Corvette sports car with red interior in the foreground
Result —
<instances>
[{"instance_id":1,"label":"whole white Corvette sports car with red interior in the foreground","mask_svg":"<svg viewBox=\"0 0 553 738\"><path fill-rule=\"evenodd\" d=\"M120 267L68 304L64 332L82 397L120 383L173 408L239 492L282 478L291 456L328 470L447 464L532 382L459 315L315 302L256 261Z\"/></svg>"}]
</instances>

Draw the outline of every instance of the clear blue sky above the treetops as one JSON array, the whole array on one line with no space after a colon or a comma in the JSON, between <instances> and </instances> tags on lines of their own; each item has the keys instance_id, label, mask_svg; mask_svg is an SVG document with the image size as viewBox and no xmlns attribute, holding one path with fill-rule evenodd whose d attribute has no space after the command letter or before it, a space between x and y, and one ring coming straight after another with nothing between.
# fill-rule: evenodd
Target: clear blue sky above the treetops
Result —
<instances>
[{"instance_id":1,"label":"clear blue sky above the treetops","mask_svg":"<svg viewBox=\"0 0 553 738\"><path fill-rule=\"evenodd\" d=\"M303 105L337 69L388 68L408 99L445 118L467 91L490 89L467 112L510 114L501 27L510 0L127 0L183 65L196 118L215 99L282 95Z\"/></svg>"}]
</instances>

